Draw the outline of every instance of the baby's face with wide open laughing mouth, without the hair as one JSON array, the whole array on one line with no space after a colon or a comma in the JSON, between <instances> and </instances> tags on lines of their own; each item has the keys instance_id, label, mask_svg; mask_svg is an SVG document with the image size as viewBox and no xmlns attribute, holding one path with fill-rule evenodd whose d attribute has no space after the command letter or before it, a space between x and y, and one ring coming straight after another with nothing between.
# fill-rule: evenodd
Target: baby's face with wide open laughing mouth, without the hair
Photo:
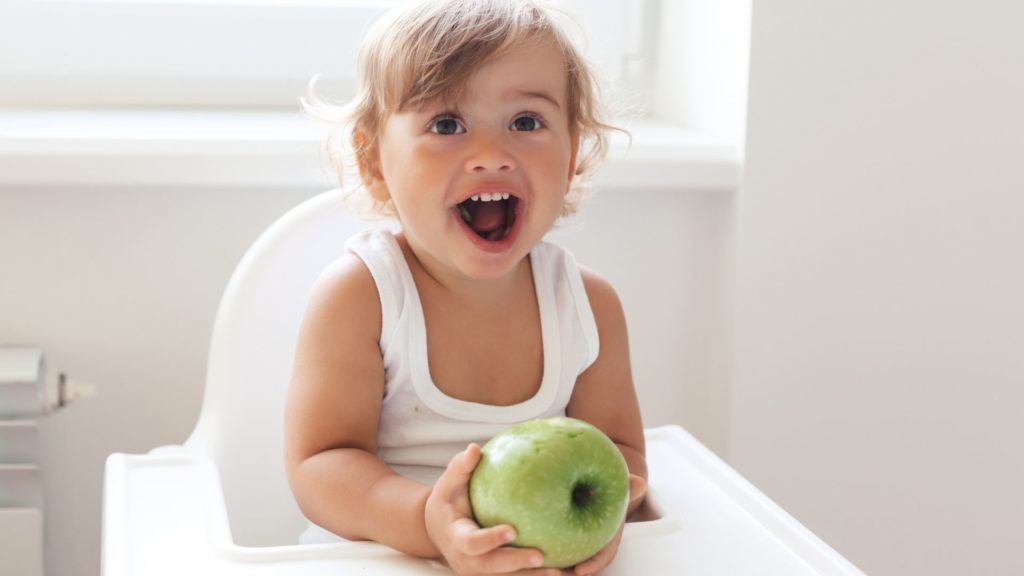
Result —
<instances>
[{"instance_id":1,"label":"baby's face with wide open laughing mouth, without the hair","mask_svg":"<svg viewBox=\"0 0 1024 576\"><path fill-rule=\"evenodd\" d=\"M501 277L551 229L579 147L566 88L560 50L524 43L474 73L459 101L388 118L379 176L367 184L378 200L392 200L431 274ZM489 195L509 200L471 199Z\"/></svg>"}]
</instances>

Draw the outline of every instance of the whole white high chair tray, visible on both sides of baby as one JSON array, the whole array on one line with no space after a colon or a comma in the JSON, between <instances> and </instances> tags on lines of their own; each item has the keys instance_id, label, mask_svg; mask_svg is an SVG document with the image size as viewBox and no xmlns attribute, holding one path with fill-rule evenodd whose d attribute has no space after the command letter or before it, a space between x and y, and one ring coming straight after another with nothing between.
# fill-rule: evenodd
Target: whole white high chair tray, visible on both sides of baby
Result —
<instances>
[{"instance_id":1,"label":"whole white high chair tray, visible on both sides of baby","mask_svg":"<svg viewBox=\"0 0 1024 576\"><path fill-rule=\"evenodd\" d=\"M862 575L683 428L646 437L653 520L603 574ZM103 576L450 574L372 542L237 545L215 462L187 449L113 454L103 490Z\"/></svg>"}]
</instances>

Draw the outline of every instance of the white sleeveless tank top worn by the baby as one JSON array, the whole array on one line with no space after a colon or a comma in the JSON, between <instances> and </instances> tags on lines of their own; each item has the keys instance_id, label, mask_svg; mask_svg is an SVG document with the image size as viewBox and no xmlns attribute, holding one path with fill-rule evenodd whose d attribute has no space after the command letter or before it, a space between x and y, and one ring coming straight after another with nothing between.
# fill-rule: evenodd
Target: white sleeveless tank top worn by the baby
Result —
<instances>
[{"instance_id":1,"label":"white sleeveless tank top worn by the baby","mask_svg":"<svg viewBox=\"0 0 1024 576\"><path fill-rule=\"evenodd\" d=\"M378 457L395 471L432 484L470 442L482 445L514 423L565 415L577 377L598 354L597 324L568 251L542 242L529 253L544 340L541 386L524 402L493 406L452 398L434 385L423 308L393 233L369 230L346 247L366 262L380 294L385 383Z\"/></svg>"}]
</instances>

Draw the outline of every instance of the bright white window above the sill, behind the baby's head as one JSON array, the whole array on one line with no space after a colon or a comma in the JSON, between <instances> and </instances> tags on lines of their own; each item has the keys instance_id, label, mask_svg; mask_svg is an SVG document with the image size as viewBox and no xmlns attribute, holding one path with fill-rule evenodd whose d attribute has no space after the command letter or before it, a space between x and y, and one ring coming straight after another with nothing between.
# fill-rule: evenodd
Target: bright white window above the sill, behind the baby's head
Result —
<instances>
[{"instance_id":1,"label":"bright white window above the sill, behind the baby's head","mask_svg":"<svg viewBox=\"0 0 1024 576\"><path fill-rule=\"evenodd\" d=\"M325 90L351 92L364 31L399 3L8 0L0 7L0 106L295 109L316 74ZM612 77L643 76L636 61L646 0L555 4L580 14L593 56Z\"/></svg>"}]
</instances>

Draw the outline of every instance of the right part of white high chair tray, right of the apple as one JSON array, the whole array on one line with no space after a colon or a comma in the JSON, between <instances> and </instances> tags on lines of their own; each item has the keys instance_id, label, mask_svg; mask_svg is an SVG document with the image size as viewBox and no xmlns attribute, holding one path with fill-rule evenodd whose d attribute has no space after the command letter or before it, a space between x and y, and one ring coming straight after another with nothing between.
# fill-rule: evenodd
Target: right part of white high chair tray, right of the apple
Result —
<instances>
[{"instance_id":1,"label":"right part of white high chair tray, right of the apple","mask_svg":"<svg viewBox=\"0 0 1024 576\"><path fill-rule=\"evenodd\" d=\"M650 530L641 523L631 534L627 525L612 569L672 566L673 573L692 576L864 576L682 427L644 431L650 494L655 508L665 510L663 520L678 529Z\"/></svg>"}]
</instances>

